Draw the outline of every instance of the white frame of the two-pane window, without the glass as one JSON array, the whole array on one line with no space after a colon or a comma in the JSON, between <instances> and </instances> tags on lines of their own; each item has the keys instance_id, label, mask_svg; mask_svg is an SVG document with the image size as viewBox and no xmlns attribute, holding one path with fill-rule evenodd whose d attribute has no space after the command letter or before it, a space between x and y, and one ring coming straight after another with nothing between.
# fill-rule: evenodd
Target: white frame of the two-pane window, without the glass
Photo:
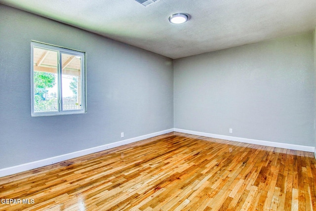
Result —
<instances>
[{"instance_id":1,"label":"white frame of the two-pane window, without the glass","mask_svg":"<svg viewBox=\"0 0 316 211\"><path fill-rule=\"evenodd\" d=\"M44 48L47 50L57 51L57 86L58 86L58 109L57 111L40 111L35 112L34 110L34 47ZM80 83L81 83L81 109L78 110L63 110L63 98L62 98L62 85L61 85L61 75L62 75L62 64L61 53L72 54L81 57L81 67L80 67ZM69 114L84 114L86 113L86 58L85 52L74 50L70 48L60 47L57 45L47 44L43 42L31 41L31 116L56 116L56 115L69 115Z\"/></svg>"}]
</instances>

